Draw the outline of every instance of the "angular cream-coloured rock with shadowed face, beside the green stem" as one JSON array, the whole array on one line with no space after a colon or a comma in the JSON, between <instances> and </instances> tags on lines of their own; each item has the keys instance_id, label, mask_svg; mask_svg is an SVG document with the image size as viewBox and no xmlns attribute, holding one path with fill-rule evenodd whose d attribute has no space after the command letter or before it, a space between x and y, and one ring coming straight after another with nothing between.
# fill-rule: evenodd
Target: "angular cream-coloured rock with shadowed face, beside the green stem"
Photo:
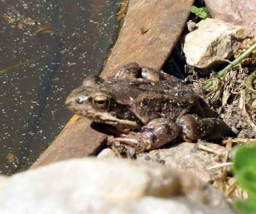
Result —
<instances>
[{"instance_id":1,"label":"angular cream-coloured rock with shadowed face, beside the green stem","mask_svg":"<svg viewBox=\"0 0 256 214\"><path fill-rule=\"evenodd\" d=\"M186 35L183 49L186 62L201 69L218 65L229 59L248 35L250 30L244 26L219 19L202 20L195 31Z\"/></svg>"}]
</instances>

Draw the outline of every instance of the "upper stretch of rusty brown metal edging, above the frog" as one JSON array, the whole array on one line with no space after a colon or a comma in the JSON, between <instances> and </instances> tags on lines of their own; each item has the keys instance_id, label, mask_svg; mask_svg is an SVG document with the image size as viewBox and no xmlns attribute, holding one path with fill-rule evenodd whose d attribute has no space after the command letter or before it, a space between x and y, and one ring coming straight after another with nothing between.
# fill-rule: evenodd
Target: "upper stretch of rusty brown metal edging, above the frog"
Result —
<instances>
[{"instance_id":1,"label":"upper stretch of rusty brown metal edging, above the frog","mask_svg":"<svg viewBox=\"0 0 256 214\"><path fill-rule=\"evenodd\" d=\"M192 4L193 0L130 0L119 38L101 76L106 78L132 61L162 68L183 31ZM145 34L140 30L143 27L148 29Z\"/></svg>"}]
</instances>

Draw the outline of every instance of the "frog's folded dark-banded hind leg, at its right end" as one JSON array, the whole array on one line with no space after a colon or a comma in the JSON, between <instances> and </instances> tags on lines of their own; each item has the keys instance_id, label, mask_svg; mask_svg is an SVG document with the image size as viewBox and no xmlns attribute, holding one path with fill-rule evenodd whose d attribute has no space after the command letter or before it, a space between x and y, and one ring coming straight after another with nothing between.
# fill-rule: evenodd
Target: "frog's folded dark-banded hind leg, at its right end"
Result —
<instances>
[{"instance_id":1,"label":"frog's folded dark-banded hind leg, at its right end","mask_svg":"<svg viewBox=\"0 0 256 214\"><path fill-rule=\"evenodd\" d=\"M185 115L178 123L182 127L182 139L187 142L195 142L197 139L218 141L230 133L227 123L219 118Z\"/></svg>"}]
</instances>

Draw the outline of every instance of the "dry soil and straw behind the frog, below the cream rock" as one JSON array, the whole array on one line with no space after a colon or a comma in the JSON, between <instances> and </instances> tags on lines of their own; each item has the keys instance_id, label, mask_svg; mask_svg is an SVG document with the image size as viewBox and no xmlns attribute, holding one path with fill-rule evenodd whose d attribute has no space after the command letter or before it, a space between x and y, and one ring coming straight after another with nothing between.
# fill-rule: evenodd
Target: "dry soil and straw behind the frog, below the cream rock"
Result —
<instances>
[{"instance_id":1,"label":"dry soil and straw behind the frog, below the cream rock","mask_svg":"<svg viewBox=\"0 0 256 214\"><path fill-rule=\"evenodd\" d=\"M237 138L255 139L256 66L250 63L236 66L227 72L224 78L218 79L215 78L216 72L224 68L227 63L209 71L195 70L192 66L186 65L185 56L180 54L181 46L180 42L163 66L163 71L185 79L185 82L231 127ZM205 90L204 86L209 78L214 78L215 83Z\"/></svg>"}]
</instances>

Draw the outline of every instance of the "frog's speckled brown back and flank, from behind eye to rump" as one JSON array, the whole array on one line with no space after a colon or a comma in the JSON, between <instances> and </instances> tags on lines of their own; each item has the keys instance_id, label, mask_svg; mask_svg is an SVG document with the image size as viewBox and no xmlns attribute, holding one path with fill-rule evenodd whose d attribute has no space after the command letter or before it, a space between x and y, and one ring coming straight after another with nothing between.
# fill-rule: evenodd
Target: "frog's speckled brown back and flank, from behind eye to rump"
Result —
<instances>
[{"instance_id":1,"label":"frog's speckled brown back and flank, from behind eye to rump","mask_svg":"<svg viewBox=\"0 0 256 214\"><path fill-rule=\"evenodd\" d=\"M142 118L176 120L188 113L212 116L209 106L185 83L175 77L163 81L147 79L110 79L101 89L110 92L117 102L130 105ZM206 111L205 111L206 109Z\"/></svg>"}]
</instances>

